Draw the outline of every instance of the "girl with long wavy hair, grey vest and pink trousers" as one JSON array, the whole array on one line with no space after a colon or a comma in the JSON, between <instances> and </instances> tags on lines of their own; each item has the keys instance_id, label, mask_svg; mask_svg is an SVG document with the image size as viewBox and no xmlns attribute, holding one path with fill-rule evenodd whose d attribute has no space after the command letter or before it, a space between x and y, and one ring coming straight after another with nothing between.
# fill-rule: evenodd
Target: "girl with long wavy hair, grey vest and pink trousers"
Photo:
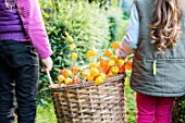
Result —
<instances>
[{"instance_id":1,"label":"girl with long wavy hair, grey vest and pink trousers","mask_svg":"<svg viewBox=\"0 0 185 123\"><path fill-rule=\"evenodd\" d=\"M185 0L136 0L118 56L134 53L137 123L171 123L185 95Z\"/></svg>"}]
</instances>

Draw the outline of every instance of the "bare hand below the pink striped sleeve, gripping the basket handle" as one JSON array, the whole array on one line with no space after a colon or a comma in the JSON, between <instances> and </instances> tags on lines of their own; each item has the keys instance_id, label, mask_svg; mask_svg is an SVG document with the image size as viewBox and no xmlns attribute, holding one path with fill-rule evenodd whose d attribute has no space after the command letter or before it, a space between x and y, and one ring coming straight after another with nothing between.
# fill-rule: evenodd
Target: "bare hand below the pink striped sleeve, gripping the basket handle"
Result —
<instances>
[{"instance_id":1,"label":"bare hand below the pink striped sleeve, gripping the basket handle","mask_svg":"<svg viewBox=\"0 0 185 123\"><path fill-rule=\"evenodd\" d=\"M41 72L46 72L46 69L48 69L48 71L51 71L52 69L52 60L50 57L42 59L41 60L44 63L44 69L41 70Z\"/></svg>"}]
</instances>

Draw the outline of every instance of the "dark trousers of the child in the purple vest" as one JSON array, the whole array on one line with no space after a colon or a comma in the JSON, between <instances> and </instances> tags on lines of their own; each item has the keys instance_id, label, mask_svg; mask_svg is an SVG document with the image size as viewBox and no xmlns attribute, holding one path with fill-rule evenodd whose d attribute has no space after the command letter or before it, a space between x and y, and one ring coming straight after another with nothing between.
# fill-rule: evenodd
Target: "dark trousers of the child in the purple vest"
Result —
<instances>
[{"instance_id":1,"label":"dark trousers of the child in the purple vest","mask_svg":"<svg viewBox=\"0 0 185 123\"><path fill-rule=\"evenodd\" d=\"M12 123L14 90L17 122L35 123L39 72L30 42L0 40L0 123Z\"/></svg>"}]
</instances>

